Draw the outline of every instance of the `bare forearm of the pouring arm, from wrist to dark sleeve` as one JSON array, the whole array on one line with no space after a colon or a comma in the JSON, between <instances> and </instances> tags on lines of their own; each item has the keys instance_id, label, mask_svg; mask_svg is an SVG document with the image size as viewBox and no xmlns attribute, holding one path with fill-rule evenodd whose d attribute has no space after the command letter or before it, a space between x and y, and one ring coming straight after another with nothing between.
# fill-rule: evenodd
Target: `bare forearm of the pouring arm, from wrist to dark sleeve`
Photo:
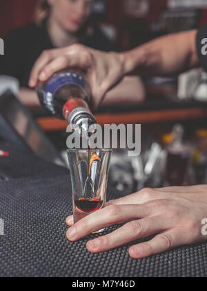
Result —
<instances>
[{"instance_id":1,"label":"bare forearm of the pouring arm, from wrist to dark sleeve","mask_svg":"<svg viewBox=\"0 0 207 291\"><path fill-rule=\"evenodd\" d=\"M196 30L159 37L124 53L125 73L173 76L198 66Z\"/></svg>"}]
</instances>

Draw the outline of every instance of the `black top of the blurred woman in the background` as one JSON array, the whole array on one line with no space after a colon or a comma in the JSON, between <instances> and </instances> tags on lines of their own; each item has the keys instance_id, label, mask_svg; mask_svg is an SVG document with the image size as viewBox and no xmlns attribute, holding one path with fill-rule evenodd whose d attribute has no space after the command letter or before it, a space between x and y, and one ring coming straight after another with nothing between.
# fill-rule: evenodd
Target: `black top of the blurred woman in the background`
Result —
<instances>
[{"instance_id":1,"label":"black top of the blurred woman in the background","mask_svg":"<svg viewBox=\"0 0 207 291\"><path fill-rule=\"evenodd\" d=\"M52 45L46 19L40 26L28 24L12 30L4 38L5 55L0 55L0 75L17 78L21 87L28 87L30 71L39 55ZM98 26L92 26L92 33L79 33L79 43L100 51L117 51Z\"/></svg>"}]
</instances>

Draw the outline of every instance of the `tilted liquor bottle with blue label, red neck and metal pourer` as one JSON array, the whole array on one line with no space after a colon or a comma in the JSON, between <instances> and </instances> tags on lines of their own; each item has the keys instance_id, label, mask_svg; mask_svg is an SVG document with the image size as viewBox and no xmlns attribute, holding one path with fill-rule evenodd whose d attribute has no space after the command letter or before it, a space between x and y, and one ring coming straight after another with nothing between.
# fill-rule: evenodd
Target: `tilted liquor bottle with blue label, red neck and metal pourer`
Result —
<instances>
[{"instance_id":1,"label":"tilted liquor bottle with blue label, red neck and metal pourer","mask_svg":"<svg viewBox=\"0 0 207 291\"><path fill-rule=\"evenodd\" d=\"M37 94L41 105L69 125L77 125L81 135L88 136L88 127L97 123L90 112L90 86L80 69L59 71L47 82L39 82Z\"/></svg>"}]
</instances>

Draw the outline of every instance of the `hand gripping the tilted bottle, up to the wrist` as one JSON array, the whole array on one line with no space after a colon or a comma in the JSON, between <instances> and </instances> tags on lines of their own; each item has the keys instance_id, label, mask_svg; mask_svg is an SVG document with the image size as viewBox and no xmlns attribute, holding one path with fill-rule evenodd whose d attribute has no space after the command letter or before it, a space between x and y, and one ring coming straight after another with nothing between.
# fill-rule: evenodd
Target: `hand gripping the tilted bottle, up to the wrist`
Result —
<instances>
[{"instance_id":1,"label":"hand gripping the tilted bottle, up to the wrist","mask_svg":"<svg viewBox=\"0 0 207 291\"><path fill-rule=\"evenodd\" d=\"M68 67L85 69L97 107L106 92L126 74L124 66L124 54L103 53L74 44L44 51L30 74L30 87L37 86L38 80L46 81L57 71Z\"/></svg>"}]
</instances>

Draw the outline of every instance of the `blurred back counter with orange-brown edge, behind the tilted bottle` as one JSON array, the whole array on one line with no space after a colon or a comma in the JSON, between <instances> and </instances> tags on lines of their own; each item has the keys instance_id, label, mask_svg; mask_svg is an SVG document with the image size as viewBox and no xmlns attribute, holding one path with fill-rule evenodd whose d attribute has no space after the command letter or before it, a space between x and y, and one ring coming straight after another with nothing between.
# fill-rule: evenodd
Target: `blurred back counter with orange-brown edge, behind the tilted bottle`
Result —
<instances>
[{"instance_id":1,"label":"blurred back counter with orange-brown edge, behind the tilted bottle","mask_svg":"<svg viewBox=\"0 0 207 291\"><path fill-rule=\"evenodd\" d=\"M99 107L95 118L104 124L155 124L160 122L195 121L207 118L207 102L179 100L175 87L162 89L147 87L147 97L143 103L115 103ZM45 111L32 110L37 123L43 130L66 130L66 121L48 116Z\"/></svg>"}]
</instances>

